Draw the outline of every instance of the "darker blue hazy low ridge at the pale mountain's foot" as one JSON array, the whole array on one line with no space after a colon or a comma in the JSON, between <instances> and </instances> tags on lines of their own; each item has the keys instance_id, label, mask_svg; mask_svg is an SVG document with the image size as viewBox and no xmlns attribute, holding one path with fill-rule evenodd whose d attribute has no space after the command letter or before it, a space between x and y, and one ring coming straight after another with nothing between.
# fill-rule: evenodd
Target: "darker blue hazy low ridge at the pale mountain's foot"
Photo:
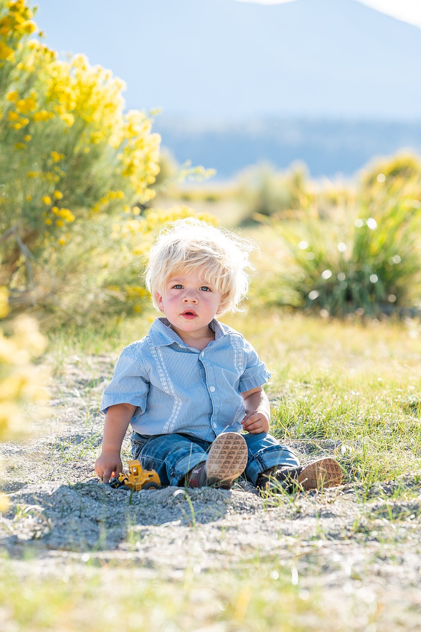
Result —
<instances>
[{"instance_id":1,"label":"darker blue hazy low ridge at the pale mountain's foot","mask_svg":"<svg viewBox=\"0 0 421 632\"><path fill-rule=\"evenodd\" d=\"M232 178L249 164L271 162L285 169L306 162L311 176L352 176L367 161L402 148L421 154L420 123L256 119L248 123L199 123L159 118L154 129L179 162L217 169L219 180Z\"/></svg>"}]
</instances>

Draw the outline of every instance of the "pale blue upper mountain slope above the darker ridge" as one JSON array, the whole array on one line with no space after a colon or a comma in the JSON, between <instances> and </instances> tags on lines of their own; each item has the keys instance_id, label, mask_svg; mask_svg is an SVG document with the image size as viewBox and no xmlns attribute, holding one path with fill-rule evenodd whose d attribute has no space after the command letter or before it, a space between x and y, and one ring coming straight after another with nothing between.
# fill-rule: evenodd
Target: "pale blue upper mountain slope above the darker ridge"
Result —
<instances>
[{"instance_id":1,"label":"pale blue upper mountain slope above the darker ridge","mask_svg":"<svg viewBox=\"0 0 421 632\"><path fill-rule=\"evenodd\" d=\"M421 0L420 0L421 1ZM38 0L47 44L168 116L421 120L421 29L355 0Z\"/></svg>"}]
</instances>

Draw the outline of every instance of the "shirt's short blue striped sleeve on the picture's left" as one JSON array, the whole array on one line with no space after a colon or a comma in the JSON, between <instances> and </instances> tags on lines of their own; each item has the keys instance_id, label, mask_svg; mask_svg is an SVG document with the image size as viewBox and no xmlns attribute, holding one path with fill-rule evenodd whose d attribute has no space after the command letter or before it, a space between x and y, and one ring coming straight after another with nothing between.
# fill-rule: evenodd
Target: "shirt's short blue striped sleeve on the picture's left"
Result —
<instances>
[{"instance_id":1,"label":"shirt's short blue striped sleeve on the picture's left","mask_svg":"<svg viewBox=\"0 0 421 632\"><path fill-rule=\"evenodd\" d=\"M101 413L107 413L108 406L114 404L132 404L136 406L134 417L146 410L146 398L149 392L147 372L134 350L128 346L120 354L115 365L113 378L105 389L101 401Z\"/></svg>"}]
</instances>

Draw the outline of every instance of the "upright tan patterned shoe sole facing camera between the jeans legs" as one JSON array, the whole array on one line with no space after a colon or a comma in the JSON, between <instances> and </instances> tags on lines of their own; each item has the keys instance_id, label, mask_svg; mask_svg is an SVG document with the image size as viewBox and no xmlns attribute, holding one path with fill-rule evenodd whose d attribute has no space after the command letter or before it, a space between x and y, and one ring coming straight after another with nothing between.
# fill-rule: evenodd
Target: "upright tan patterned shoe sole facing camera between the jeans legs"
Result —
<instances>
[{"instance_id":1,"label":"upright tan patterned shoe sole facing camera between the jeans legs","mask_svg":"<svg viewBox=\"0 0 421 632\"><path fill-rule=\"evenodd\" d=\"M207 485L229 489L246 468L247 444L237 432L222 432L212 443L206 461Z\"/></svg>"}]
</instances>

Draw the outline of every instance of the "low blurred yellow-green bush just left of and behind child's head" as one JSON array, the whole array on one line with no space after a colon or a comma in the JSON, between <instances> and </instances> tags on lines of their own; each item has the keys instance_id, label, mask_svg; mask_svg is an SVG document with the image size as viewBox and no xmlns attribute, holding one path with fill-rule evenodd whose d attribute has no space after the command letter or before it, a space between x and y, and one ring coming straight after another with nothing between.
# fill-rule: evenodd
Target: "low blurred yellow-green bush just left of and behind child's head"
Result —
<instances>
[{"instance_id":1,"label":"low blurred yellow-green bush just left of and behind child's head","mask_svg":"<svg viewBox=\"0 0 421 632\"><path fill-rule=\"evenodd\" d=\"M156 233L163 222L187 216L218 222L187 207L132 207L129 213L122 209L98 216L95 224L77 225L66 248L52 253L51 265L61 285L54 302L42 305L44 326L67 320L83 325L86 319L103 322L108 316L142 312L150 300L139 275Z\"/></svg>"}]
</instances>

